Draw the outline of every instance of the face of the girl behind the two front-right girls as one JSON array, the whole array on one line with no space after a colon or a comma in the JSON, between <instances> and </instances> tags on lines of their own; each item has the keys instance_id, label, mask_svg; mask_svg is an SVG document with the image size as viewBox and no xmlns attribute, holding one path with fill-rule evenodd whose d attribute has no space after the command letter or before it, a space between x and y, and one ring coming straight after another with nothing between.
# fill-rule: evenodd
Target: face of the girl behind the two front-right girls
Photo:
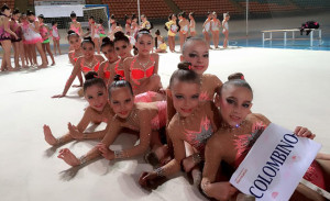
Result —
<instances>
[{"instance_id":1,"label":"face of the girl behind the two front-right girls","mask_svg":"<svg viewBox=\"0 0 330 201\"><path fill-rule=\"evenodd\" d=\"M180 59L190 63L193 70L202 75L209 67L209 48L204 41L187 41Z\"/></svg>"}]
</instances>

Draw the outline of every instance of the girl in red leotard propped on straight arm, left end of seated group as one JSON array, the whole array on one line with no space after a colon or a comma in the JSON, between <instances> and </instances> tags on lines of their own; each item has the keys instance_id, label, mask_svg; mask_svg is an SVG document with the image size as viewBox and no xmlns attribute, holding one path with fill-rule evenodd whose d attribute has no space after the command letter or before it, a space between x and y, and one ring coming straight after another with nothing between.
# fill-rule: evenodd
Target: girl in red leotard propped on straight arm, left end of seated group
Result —
<instances>
[{"instance_id":1,"label":"girl in red leotard propped on straight arm, left end of seated group","mask_svg":"<svg viewBox=\"0 0 330 201\"><path fill-rule=\"evenodd\" d=\"M77 59L75 67L72 71L72 75L67 80L62 94L56 94L53 96L52 98L65 97L78 74L82 72L84 75L86 75L89 71L98 71L100 64L105 60L105 58L101 55L95 55L95 44L91 41L91 37L84 38L84 41L81 42L81 48L82 48L84 56L80 56Z\"/></svg>"}]
</instances>

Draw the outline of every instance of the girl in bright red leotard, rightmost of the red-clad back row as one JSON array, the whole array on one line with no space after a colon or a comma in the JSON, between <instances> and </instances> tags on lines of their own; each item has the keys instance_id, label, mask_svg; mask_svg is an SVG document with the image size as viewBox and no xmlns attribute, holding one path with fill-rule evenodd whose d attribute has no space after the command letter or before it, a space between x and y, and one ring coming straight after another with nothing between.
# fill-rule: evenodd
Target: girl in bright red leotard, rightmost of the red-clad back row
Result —
<instances>
[{"instance_id":1,"label":"girl in bright red leotard, rightmost of the red-clad back row","mask_svg":"<svg viewBox=\"0 0 330 201\"><path fill-rule=\"evenodd\" d=\"M136 35L138 55L124 60L125 79L131 82L134 94L146 91L158 91L162 87L158 76L158 59L156 53L152 53L153 37L148 30L140 30Z\"/></svg>"}]
</instances>

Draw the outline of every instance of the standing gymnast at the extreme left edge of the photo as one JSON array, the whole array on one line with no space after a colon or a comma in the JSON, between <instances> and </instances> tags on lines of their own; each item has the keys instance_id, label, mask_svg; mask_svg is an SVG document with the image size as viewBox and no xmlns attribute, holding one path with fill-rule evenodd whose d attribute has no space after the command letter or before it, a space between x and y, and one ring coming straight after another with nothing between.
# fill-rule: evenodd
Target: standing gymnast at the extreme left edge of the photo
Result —
<instances>
[{"instance_id":1,"label":"standing gymnast at the extreme left edge of the photo","mask_svg":"<svg viewBox=\"0 0 330 201\"><path fill-rule=\"evenodd\" d=\"M1 71L14 70L14 68L11 66L10 48L11 48L11 38L14 37L15 40L18 40L18 35L10 30L10 23L9 23L10 15L11 15L11 10L7 4L3 4L1 7L1 14L0 14L0 44L3 48Z\"/></svg>"}]
</instances>

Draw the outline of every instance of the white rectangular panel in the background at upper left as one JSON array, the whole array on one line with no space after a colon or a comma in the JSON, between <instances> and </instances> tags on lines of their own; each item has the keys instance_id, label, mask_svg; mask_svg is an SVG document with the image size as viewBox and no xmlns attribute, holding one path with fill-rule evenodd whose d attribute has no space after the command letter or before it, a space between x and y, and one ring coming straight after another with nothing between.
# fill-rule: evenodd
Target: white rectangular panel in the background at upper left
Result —
<instances>
[{"instance_id":1,"label":"white rectangular panel in the background at upper left","mask_svg":"<svg viewBox=\"0 0 330 201\"><path fill-rule=\"evenodd\" d=\"M36 16L43 14L45 18L63 18L70 16L70 13L75 11L77 16L84 16L82 4L76 5L36 5L35 14Z\"/></svg>"}]
</instances>

